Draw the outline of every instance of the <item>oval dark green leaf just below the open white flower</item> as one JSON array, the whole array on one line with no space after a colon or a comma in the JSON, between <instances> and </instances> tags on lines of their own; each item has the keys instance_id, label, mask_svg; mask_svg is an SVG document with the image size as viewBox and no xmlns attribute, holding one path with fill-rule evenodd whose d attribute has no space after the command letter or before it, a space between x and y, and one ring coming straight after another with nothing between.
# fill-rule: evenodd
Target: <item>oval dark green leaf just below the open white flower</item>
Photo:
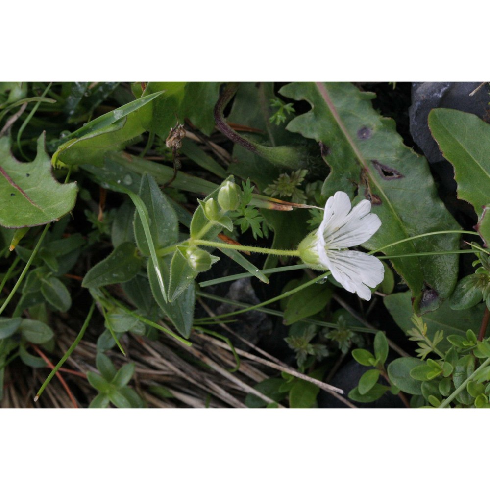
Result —
<instances>
[{"instance_id":1,"label":"oval dark green leaf just below the open white flower","mask_svg":"<svg viewBox=\"0 0 490 490\"><path fill-rule=\"evenodd\" d=\"M321 311L332 298L332 290L327 284L312 284L289 297L284 310L284 324L291 325L298 320L312 317Z\"/></svg>"}]
</instances>

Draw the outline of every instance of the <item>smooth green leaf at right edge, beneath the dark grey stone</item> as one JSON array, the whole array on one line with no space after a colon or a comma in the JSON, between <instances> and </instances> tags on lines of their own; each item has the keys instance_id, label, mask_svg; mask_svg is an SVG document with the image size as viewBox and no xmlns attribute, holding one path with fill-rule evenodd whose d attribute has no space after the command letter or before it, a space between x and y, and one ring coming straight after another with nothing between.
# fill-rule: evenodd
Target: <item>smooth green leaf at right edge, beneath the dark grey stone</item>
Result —
<instances>
[{"instance_id":1,"label":"smooth green leaf at right edge, beneath the dark grey stone","mask_svg":"<svg viewBox=\"0 0 490 490\"><path fill-rule=\"evenodd\" d=\"M454 109L429 113L432 136L454 167L458 197L475 208L476 230L490 243L490 124L474 114Z\"/></svg>"}]
</instances>

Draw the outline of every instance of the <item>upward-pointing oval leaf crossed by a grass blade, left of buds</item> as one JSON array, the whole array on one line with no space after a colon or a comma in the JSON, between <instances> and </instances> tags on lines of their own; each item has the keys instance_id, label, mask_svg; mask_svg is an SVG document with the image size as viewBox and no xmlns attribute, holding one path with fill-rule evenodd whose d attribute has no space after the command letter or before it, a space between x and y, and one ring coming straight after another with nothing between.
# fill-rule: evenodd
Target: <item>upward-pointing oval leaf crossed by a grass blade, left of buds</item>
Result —
<instances>
[{"instance_id":1,"label":"upward-pointing oval leaf crossed by a grass blade, left of buds","mask_svg":"<svg viewBox=\"0 0 490 490\"><path fill-rule=\"evenodd\" d=\"M162 193L151 175L144 174L141 177L138 196L147 207L149 230L154 247L158 249L176 243L178 241L177 216L169 199ZM134 216L134 235L141 253L149 256L150 248L138 211Z\"/></svg>"}]
</instances>

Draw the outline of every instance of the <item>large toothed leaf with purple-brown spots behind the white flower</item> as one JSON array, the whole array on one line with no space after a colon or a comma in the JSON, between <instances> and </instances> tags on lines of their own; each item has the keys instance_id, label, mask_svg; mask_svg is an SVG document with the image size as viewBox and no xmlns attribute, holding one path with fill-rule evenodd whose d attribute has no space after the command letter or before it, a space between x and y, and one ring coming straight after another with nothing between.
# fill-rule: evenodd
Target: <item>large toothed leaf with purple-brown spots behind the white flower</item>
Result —
<instances>
[{"instance_id":1,"label":"large toothed leaf with purple-brown spots behind the white flower","mask_svg":"<svg viewBox=\"0 0 490 490\"><path fill-rule=\"evenodd\" d=\"M425 158L403 145L392 119L371 106L372 94L349 83L292 83L280 93L305 99L312 110L287 129L313 138L331 172L323 194L343 190L355 201L369 199L381 228L363 246L379 248L431 231L458 229L437 196ZM354 202L355 203L355 202ZM399 255L458 248L458 235L434 235L388 248ZM435 310L456 284L457 256L406 257L392 260L412 291L417 313Z\"/></svg>"}]
</instances>

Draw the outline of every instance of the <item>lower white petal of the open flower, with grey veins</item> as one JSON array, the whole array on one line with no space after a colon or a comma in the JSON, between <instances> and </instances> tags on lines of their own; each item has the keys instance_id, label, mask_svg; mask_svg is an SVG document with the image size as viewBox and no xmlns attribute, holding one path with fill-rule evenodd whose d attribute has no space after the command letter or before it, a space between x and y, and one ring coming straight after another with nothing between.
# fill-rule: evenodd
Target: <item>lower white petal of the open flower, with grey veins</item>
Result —
<instances>
[{"instance_id":1,"label":"lower white petal of the open flower, with grey veins","mask_svg":"<svg viewBox=\"0 0 490 490\"><path fill-rule=\"evenodd\" d=\"M374 288L385 275L382 262L367 253L355 250L327 250L327 261L334 279L361 299L371 299L368 286Z\"/></svg>"}]
</instances>

